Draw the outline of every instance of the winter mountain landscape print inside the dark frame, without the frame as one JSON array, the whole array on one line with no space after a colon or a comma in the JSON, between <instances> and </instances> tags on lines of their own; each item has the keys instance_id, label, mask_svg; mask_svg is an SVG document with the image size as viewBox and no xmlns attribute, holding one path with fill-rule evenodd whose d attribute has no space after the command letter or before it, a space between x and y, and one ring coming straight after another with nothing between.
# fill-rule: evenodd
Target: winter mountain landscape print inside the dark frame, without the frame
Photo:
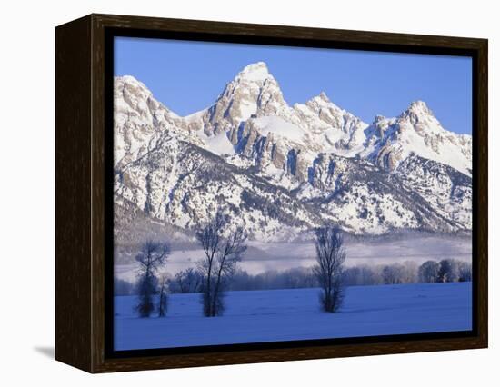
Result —
<instances>
[{"instance_id":1,"label":"winter mountain landscape print inside the dark frame, without the frame","mask_svg":"<svg viewBox=\"0 0 500 387\"><path fill-rule=\"evenodd\" d=\"M115 37L114 350L472 330L472 59Z\"/></svg>"}]
</instances>

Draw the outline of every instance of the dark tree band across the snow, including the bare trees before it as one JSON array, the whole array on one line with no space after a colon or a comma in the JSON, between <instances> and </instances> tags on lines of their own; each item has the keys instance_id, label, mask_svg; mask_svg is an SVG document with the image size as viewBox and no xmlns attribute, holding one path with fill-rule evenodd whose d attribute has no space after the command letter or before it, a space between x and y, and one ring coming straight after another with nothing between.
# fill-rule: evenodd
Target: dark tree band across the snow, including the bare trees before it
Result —
<instances>
[{"instance_id":1,"label":"dark tree band across the snow, including the bare trees before it","mask_svg":"<svg viewBox=\"0 0 500 387\"><path fill-rule=\"evenodd\" d=\"M229 232L229 230L231 230ZM238 268L247 244L242 227L231 227L230 219L218 211L196 232L204 257L196 267L170 276L165 267L168 243L146 241L135 256L139 270L135 283L115 278L115 295L136 295L135 312L140 317L167 313L169 293L200 293L203 314L220 316L225 311L225 293L239 290L320 288L320 305L325 312L338 312L345 288L355 285L400 283L449 283L471 281L470 263L444 259L345 268L345 244L335 225L315 230L316 264L283 272L249 274Z\"/></svg>"}]
</instances>

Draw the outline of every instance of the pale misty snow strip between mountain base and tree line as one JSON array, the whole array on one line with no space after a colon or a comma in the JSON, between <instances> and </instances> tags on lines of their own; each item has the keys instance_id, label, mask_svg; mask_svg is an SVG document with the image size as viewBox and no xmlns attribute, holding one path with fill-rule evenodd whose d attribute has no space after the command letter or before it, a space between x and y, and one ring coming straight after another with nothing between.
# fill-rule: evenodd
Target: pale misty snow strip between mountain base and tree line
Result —
<instances>
[{"instance_id":1,"label":"pale misty snow strip between mountain base and tree line","mask_svg":"<svg viewBox=\"0 0 500 387\"><path fill-rule=\"evenodd\" d=\"M472 239L470 236L447 236L437 234L410 234L405 238L347 240L345 242L346 266L360 264L390 264L413 261L417 264L427 260L441 261L454 258L471 262ZM199 247L174 250L168 257L166 270L175 274L188 267L195 267L204 256ZM115 264L115 277L135 282L136 263ZM240 268L247 273L262 273L267 270L284 271L295 267L310 267L315 264L315 245L309 243L262 243L251 241Z\"/></svg>"}]
</instances>

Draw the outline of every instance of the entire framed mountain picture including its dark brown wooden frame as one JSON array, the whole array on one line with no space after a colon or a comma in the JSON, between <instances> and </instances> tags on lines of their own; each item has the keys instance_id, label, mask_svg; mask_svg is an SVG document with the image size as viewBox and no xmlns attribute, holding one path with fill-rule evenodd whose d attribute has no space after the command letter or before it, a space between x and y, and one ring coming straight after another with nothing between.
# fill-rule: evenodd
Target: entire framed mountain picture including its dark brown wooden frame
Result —
<instances>
[{"instance_id":1,"label":"entire framed mountain picture including its dark brown wooden frame","mask_svg":"<svg viewBox=\"0 0 500 387\"><path fill-rule=\"evenodd\" d=\"M56 28L56 359L487 346L487 41Z\"/></svg>"}]
</instances>

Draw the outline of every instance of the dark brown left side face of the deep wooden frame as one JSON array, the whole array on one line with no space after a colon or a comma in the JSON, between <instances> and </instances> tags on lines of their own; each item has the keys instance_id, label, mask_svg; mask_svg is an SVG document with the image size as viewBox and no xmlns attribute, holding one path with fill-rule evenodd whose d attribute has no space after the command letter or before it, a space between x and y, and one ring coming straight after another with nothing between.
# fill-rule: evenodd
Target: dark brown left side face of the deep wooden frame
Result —
<instances>
[{"instance_id":1,"label":"dark brown left side face of the deep wooden frame","mask_svg":"<svg viewBox=\"0 0 500 387\"><path fill-rule=\"evenodd\" d=\"M55 359L89 372L90 20L55 29Z\"/></svg>"}]
</instances>

